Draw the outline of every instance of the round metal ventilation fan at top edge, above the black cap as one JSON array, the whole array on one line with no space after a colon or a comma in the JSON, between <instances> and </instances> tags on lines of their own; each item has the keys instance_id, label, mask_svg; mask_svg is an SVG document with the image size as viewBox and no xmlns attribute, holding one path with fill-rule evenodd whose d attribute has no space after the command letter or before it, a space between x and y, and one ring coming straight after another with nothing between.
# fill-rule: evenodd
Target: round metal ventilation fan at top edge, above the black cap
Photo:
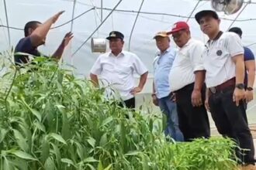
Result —
<instances>
[{"instance_id":1,"label":"round metal ventilation fan at top edge, above the black cap","mask_svg":"<svg viewBox=\"0 0 256 170\"><path fill-rule=\"evenodd\" d=\"M230 15L237 12L243 5L244 0L211 0L212 7L217 12L225 12Z\"/></svg>"}]
</instances>

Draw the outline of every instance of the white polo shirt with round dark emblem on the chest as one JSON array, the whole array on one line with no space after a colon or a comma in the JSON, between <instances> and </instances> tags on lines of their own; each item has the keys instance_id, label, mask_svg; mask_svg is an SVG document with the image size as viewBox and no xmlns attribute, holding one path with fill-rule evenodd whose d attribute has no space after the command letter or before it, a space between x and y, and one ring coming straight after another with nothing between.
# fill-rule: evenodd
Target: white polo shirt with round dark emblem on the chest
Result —
<instances>
[{"instance_id":1,"label":"white polo shirt with round dark emblem on the chest","mask_svg":"<svg viewBox=\"0 0 256 170\"><path fill-rule=\"evenodd\" d=\"M223 32L219 39L207 42L202 55L206 68L206 87L216 87L236 76L232 56L239 54L244 54L244 48L234 32Z\"/></svg>"}]
</instances>

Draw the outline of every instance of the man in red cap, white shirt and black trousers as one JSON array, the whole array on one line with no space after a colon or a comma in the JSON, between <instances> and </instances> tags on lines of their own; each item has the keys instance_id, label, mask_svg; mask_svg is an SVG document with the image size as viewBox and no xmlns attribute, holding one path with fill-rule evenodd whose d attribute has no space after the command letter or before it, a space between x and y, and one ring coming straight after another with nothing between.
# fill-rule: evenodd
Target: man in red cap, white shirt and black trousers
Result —
<instances>
[{"instance_id":1,"label":"man in red cap, white shirt and black trousers","mask_svg":"<svg viewBox=\"0 0 256 170\"><path fill-rule=\"evenodd\" d=\"M209 119L202 102L206 90L201 57L204 45L191 38L186 22L176 22L169 34L179 47L169 74L170 88L176 97L179 128L185 141L209 138Z\"/></svg>"}]
</instances>

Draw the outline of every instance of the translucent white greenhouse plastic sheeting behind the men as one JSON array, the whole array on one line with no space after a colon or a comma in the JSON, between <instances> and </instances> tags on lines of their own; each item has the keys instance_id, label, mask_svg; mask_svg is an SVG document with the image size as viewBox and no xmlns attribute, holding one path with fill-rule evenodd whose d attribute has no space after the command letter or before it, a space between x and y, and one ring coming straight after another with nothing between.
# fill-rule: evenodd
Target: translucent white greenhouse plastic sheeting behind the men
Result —
<instances>
[{"instance_id":1,"label":"translucent white greenhouse plastic sheeting behind the men","mask_svg":"<svg viewBox=\"0 0 256 170\"><path fill-rule=\"evenodd\" d=\"M46 45L40 47L40 50L46 55L54 53L64 34L69 31L74 32L74 39L65 50L64 62L74 65L77 68L74 73L77 75L88 76L99 53L92 53L91 39L83 46L81 45L99 27L101 21L106 19L118 2L119 0L1 0L0 51L8 51L12 46L16 46L16 43L23 36L23 31L19 29L23 29L26 22L31 20L44 22L55 13L65 10L54 26L68 23L57 29L51 29L47 36ZM247 6L245 8L243 6L234 15L218 13L222 18L221 29L226 31L231 25L240 26L244 32L244 46L250 46L254 52L256 50L256 46L254 46L254 42L256 42L255 3L255 1L251 1L248 5L244 3ZM83 12L85 14L74 19L73 22L69 22L72 19L73 9L74 17ZM139 9L140 14L137 18ZM136 53L152 73L152 61L157 50L153 39L156 32L170 30L175 22L188 21L192 37L206 42L206 36L203 36L194 19L195 13L202 9L211 9L210 2L197 0L123 0L92 37L106 38L112 30L123 32L125 36L124 49L130 49L131 52ZM9 24L6 22L6 14ZM191 17L189 17L190 15ZM134 25L136 18L137 22ZM3 26L14 27L15 29L7 29ZM128 46L129 41L130 48ZM80 46L81 49L78 50ZM172 41L171 46L175 47L175 43Z\"/></svg>"}]
</instances>

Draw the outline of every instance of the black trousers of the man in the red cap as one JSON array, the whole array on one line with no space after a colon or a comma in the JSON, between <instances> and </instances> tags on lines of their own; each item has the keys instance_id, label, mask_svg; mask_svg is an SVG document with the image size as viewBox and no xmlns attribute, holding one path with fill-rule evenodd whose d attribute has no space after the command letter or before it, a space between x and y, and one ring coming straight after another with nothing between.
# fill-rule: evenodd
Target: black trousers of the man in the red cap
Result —
<instances>
[{"instance_id":1,"label":"black trousers of the man in the red cap","mask_svg":"<svg viewBox=\"0 0 256 170\"><path fill-rule=\"evenodd\" d=\"M194 138L209 138L209 118L204 105L193 107L191 101L194 83L191 83L180 90L175 91L178 125L181 129L184 140L192 141ZM206 87L202 88L202 101L205 100Z\"/></svg>"}]
</instances>

